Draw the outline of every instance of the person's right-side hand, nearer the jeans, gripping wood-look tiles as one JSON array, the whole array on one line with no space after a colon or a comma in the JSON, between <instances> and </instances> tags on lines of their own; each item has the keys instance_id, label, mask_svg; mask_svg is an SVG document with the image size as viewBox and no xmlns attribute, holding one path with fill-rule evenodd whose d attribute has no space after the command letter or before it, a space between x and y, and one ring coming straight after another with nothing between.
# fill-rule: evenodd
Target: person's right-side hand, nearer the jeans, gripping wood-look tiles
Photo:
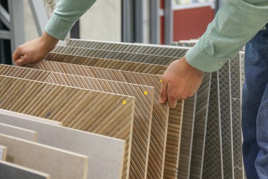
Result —
<instances>
[{"instance_id":1,"label":"person's right-side hand, nearer the jeans, gripping wood-look tiles","mask_svg":"<svg viewBox=\"0 0 268 179\"><path fill-rule=\"evenodd\" d=\"M159 103L168 101L170 108L175 108L177 100L193 96L203 80L203 72L192 67L185 56L170 63L162 76Z\"/></svg>"}]
</instances>

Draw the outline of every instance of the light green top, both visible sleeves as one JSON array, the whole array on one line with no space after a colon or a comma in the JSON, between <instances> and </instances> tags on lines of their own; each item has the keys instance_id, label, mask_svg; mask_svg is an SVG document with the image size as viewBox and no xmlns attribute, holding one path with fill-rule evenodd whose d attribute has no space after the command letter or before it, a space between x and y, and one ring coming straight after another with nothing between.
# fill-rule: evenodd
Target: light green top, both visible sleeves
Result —
<instances>
[{"instance_id":1,"label":"light green top, both visible sleeves","mask_svg":"<svg viewBox=\"0 0 268 179\"><path fill-rule=\"evenodd\" d=\"M56 39L65 39L95 1L58 0L45 31ZM199 42L187 52L186 60L205 72L219 70L267 23L268 0L227 0Z\"/></svg>"}]
</instances>

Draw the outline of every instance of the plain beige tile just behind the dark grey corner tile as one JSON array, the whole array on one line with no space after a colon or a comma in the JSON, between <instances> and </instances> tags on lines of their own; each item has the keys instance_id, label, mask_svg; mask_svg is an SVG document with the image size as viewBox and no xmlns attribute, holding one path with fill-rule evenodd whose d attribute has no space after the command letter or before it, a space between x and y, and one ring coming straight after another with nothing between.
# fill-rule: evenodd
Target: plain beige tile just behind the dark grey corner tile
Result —
<instances>
[{"instance_id":1,"label":"plain beige tile just behind the dark grey corner tile","mask_svg":"<svg viewBox=\"0 0 268 179\"><path fill-rule=\"evenodd\" d=\"M0 144L8 147L8 162L49 173L51 178L87 178L87 156L3 134Z\"/></svg>"}]
</instances>

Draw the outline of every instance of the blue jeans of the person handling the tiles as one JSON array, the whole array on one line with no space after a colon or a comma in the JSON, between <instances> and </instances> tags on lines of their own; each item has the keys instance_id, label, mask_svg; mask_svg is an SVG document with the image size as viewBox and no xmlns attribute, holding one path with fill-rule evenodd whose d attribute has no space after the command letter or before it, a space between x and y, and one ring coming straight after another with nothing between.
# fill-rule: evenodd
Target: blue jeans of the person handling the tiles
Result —
<instances>
[{"instance_id":1,"label":"blue jeans of the person handling the tiles","mask_svg":"<svg viewBox=\"0 0 268 179\"><path fill-rule=\"evenodd\" d=\"M247 179L268 178L268 30L246 45L242 131Z\"/></svg>"}]
</instances>

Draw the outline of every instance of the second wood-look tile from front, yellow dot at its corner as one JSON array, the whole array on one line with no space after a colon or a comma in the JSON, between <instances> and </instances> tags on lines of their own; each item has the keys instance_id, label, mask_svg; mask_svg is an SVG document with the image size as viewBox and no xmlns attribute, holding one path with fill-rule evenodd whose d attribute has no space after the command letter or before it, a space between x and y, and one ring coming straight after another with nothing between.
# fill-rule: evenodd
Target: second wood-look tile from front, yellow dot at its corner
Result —
<instances>
[{"instance_id":1,"label":"second wood-look tile from front, yellow dot at its corner","mask_svg":"<svg viewBox=\"0 0 268 179\"><path fill-rule=\"evenodd\" d=\"M14 76L14 72L21 70L25 71L22 76L18 74ZM37 75L40 74L40 70L32 70L29 68L14 67L8 65L5 65L5 72L0 72L0 74L27 79L27 77L25 77L25 74L27 74L27 72ZM150 142L149 134L152 124L153 98L155 90L154 87L107 81L83 76L74 76L70 74L59 74L56 72L47 73L49 73L49 75L43 80L47 83L93 89L100 92L111 92L114 94L135 96L136 103L134 109L130 172L132 176L135 176L135 178L145 178L148 165L148 150Z\"/></svg>"}]
</instances>

